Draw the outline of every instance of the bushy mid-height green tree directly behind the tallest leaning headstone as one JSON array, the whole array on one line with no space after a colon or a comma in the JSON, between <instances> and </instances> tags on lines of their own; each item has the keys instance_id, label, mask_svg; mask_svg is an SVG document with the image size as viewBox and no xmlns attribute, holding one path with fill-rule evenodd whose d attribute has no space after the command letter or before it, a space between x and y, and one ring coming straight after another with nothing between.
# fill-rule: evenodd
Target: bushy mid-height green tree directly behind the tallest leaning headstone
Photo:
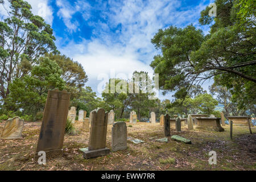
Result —
<instances>
[{"instance_id":1,"label":"bushy mid-height green tree directly behind the tallest leaning headstone","mask_svg":"<svg viewBox=\"0 0 256 182\"><path fill-rule=\"evenodd\" d=\"M49 89L63 90L65 82L61 79L61 69L55 61L47 57L40 59L40 64L32 67L31 75L15 78L10 84L10 94L5 99L6 110L23 108L23 114L43 111Z\"/></svg>"}]
</instances>

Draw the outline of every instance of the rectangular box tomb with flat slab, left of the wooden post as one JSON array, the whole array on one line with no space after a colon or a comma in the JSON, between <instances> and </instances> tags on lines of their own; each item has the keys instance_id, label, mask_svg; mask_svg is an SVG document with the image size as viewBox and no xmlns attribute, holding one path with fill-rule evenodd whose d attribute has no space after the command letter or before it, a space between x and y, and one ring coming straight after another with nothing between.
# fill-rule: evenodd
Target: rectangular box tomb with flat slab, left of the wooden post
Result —
<instances>
[{"instance_id":1,"label":"rectangular box tomb with flat slab, left of the wooden post","mask_svg":"<svg viewBox=\"0 0 256 182\"><path fill-rule=\"evenodd\" d=\"M197 117L196 129L209 129L215 131L224 131L224 128L220 125L221 118L206 118L206 117Z\"/></svg>"}]
</instances>

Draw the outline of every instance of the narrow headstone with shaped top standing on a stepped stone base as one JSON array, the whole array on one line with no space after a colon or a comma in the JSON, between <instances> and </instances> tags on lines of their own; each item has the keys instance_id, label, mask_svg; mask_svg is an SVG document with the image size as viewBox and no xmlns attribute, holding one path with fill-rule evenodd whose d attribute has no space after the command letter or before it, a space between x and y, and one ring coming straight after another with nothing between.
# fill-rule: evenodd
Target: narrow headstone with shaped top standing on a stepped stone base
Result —
<instances>
[{"instance_id":1,"label":"narrow headstone with shaped top standing on a stepped stone base","mask_svg":"<svg viewBox=\"0 0 256 182\"><path fill-rule=\"evenodd\" d=\"M106 148L106 133L108 127L108 113L102 108L92 112L92 124L90 127L90 139L88 148L80 148L85 159L108 155Z\"/></svg>"}]
</instances>

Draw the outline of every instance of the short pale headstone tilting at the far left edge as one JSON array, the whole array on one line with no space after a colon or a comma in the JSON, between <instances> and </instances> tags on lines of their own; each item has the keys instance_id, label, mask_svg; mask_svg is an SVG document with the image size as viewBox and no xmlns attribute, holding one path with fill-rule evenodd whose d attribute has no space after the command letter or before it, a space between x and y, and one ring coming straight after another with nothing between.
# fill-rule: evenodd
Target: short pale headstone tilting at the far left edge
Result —
<instances>
[{"instance_id":1,"label":"short pale headstone tilting at the far left edge","mask_svg":"<svg viewBox=\"0 0 256 182\"><path fill-rule=\"evenodd\" d=\"M19 117L8 119L0 139L22 139L23 126L24 121Z\"/></svg>"}]
</instances>

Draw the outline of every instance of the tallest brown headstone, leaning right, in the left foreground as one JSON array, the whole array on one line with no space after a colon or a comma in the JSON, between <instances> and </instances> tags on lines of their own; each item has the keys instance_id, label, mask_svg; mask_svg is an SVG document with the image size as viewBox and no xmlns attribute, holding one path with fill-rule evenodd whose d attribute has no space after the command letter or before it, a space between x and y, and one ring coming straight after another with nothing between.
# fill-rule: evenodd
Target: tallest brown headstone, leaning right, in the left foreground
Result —
<instances>
[{"instance_id":1,"label":"tallest brown headstone, leaning right, in the left foreground","mask_svg":"<svg viewBox=\"0 0 256 182\"><path fill-rule=\"evenodd\" d=\"M65 90L48 91L36 152L62 150L69 100Z\"/></svg>"}]
</instances>

